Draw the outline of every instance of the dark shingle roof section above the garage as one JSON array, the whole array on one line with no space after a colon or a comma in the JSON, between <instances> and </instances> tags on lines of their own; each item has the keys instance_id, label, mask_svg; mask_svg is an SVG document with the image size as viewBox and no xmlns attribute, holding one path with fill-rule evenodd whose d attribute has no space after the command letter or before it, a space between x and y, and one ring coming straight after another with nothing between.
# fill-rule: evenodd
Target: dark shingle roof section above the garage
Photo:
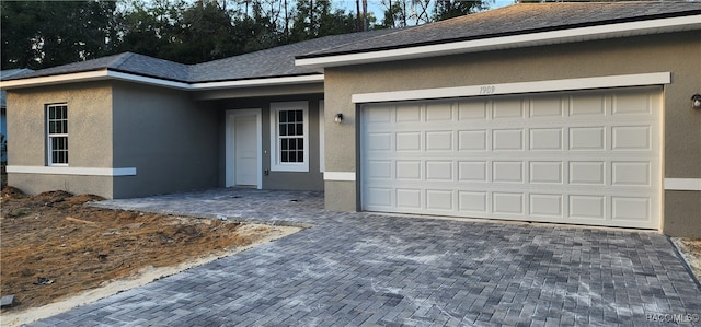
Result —
<instances>
[{"instance_id":1,"label":"dark shingle roof section above the garage","mask_svg":"<svg viewBox=\"0 0 701 327\"><path fill-rule=\"evenodd\" d=\"M701 2L627 1L519 3L397 31L298 58L406 48L470 39L701 14Z\"/></svg>"}]
</instances>

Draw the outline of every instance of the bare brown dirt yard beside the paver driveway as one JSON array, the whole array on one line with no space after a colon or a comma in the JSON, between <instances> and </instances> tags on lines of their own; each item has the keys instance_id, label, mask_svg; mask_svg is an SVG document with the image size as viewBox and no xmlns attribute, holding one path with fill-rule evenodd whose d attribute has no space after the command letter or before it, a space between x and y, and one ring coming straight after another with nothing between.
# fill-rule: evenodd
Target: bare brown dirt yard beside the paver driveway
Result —
<instances>
[{"instance_id":1,"label":"bare brown dirt yard beside the paver driveway","mask_svg":"<svg viewBox=\"0 0 701 327\"><path fill-rule=\"evenodd\" d=\"M25 196L12 187L2 189L1 295L14 295L13 305L2 308L3 316L33 311L151 267L221 256L294 232L84 206L101 199L65 191Z\"/></svg>"}]
</instances>

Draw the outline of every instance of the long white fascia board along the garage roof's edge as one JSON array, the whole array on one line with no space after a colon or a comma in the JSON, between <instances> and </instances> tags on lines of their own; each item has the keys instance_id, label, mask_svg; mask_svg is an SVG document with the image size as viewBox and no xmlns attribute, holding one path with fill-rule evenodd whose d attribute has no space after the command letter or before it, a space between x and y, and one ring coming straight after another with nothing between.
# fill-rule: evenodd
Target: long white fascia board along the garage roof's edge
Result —
<instances>
[{"instance_id":1,"label":"long white fascia board along the garage roof's edge","mask_svg":"<svg viewBox=\"0 0 701 327\"><path fill-rule=\"evenodd\" d=\"M296 59L295 65L310 69L360 65L404 59L416 59L456 54L478 52L527 46L574 43L677 31L701 30L701 15L628 22L609 25L577 27L561 31L463 40L401 49L360 54L331 55L327 57Z\"/></svg>"}]
</instances>

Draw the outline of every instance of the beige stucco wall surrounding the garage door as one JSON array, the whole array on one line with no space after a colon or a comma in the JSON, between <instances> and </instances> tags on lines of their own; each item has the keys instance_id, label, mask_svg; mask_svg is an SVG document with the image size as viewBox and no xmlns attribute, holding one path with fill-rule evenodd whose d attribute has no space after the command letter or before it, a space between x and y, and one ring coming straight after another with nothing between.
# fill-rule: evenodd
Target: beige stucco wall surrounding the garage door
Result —
<instances>
[{"instance_id":1,"label":"beige stucco wall surrounding the garage door","mask_svg":"<svg viewBox=\"0 0 701 327\"><path fill-rule=\"evenodd\" d=\"M326 128L326 171L356 172L353 94L669 71L673 81L664 89L664 176L701 178L701 110L690 103L691 95L701 92L699 58L701 34L694 31L326 68L326 107L346 118L343 126ZM358 208L355 182L327 180L325 194L327 209ZM666 191L664 200L665 234L701 236L701 191Z\"/></svg>"}]
</instances>

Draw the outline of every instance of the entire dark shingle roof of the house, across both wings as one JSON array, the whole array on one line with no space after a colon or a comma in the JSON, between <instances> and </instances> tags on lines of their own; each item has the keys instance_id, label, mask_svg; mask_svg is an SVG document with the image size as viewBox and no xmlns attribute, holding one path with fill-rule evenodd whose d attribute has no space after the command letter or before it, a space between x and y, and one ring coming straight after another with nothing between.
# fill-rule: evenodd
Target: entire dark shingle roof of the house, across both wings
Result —
<instances>
[{"instance_id":1,"label":"entire dark shingle roof of the house, across both wings","mask_svg":"<svg viewBox=\"0 0 701 327\"><path fill-rule=\"evenodd\" d=\"M415 27L326 36L198 65L188 66L125 52L1 79L9 81L104 69L183 83L294 77L319 73L310 68L295 66L295 58L367 52L691 14L701 14L701 2L524 3Z\"/></svg>"}]
</instances>

